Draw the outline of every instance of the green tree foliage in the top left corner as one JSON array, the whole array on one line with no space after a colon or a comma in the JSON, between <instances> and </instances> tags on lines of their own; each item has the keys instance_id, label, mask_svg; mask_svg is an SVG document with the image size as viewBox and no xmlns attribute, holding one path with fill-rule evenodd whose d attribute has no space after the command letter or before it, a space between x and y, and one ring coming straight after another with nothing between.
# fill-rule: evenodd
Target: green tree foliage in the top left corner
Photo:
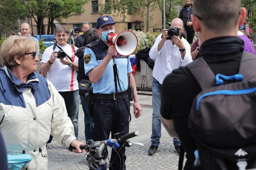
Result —
<instances>
[{"instance_id":1,"label":"green tree foliage in the top left corner","mask_svg":"<svg viewBox=\"0 0 256 170\"><path fill-rule=\"evenodd\" d=\"M1 30L11 31L18 29L17 19L27 16L26 9L20 0L0 0L0 26ZM0 32L0 35L2 31Z\"/></svg>"}]
</instances>

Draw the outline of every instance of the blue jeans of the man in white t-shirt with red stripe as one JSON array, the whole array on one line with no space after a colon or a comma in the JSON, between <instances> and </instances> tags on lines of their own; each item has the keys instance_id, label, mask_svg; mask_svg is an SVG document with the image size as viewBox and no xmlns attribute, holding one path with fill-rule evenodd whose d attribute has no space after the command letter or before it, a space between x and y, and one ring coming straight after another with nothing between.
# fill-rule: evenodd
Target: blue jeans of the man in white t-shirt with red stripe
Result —
<instances>
[{"instance_id":1,"label":"blue jeans of the man in white t-shirt with red stripe","mask_svg":"<svg viewBox=\"0 0 256 170\"><path fill-rule=\"evenodd\" d=\"M79 110L79 93L78 90L59 92L59 94L64 98L67 115L71 119L76 139L78 139L78 110Z\"/></svg>"}]
</instances>

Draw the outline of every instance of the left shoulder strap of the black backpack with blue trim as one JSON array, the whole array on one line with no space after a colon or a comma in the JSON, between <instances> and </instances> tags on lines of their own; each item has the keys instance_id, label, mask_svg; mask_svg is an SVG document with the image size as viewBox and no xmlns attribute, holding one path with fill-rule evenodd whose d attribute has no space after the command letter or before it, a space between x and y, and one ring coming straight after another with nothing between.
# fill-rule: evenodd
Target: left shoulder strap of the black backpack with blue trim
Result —
<instances>
[{"instance_id":1,"label":"left shoulder strap of the black backpack with blue trim","mask_svg":"<svg viewBox=\"0 0 256 170\"><path fill-rule=\"evenodd\" d=\"M194 75L202 90L215 86L215 75L202 57L186 67Z\"/></svg>"}]
</instances>

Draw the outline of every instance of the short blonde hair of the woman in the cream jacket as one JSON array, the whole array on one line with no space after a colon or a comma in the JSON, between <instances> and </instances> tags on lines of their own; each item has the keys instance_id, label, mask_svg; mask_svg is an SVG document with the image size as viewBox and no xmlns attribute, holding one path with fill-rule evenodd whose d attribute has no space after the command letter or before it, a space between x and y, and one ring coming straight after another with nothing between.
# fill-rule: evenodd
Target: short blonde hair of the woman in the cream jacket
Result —
<instances>
[{"instance_id":1,"label":"short blonde hair of the woman in the cream jacket","mask_svg":"<svg viewBox=\"0 0 256 170\"><path fill-rule=\"evenodd\" d=\"M0 49L3 66L15 66L14 56L24 59L26 53L37 51L37 44L25 36L12 36L6 39Z\"/></svg>"}]
</instances>

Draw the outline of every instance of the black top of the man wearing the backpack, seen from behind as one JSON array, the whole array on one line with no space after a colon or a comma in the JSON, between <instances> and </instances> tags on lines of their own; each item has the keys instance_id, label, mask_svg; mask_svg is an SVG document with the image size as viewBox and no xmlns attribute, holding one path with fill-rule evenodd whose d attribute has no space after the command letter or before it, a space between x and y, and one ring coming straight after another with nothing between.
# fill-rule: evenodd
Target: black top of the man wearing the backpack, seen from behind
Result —
<instances>
[{"instance_id":1,"label":"black top of the man wearing the backpack, seen from behind","mask_svg":"<svg viewBox=\"0 0 256 170\"><path fill-rule=\"evenodd\" d=\"M205 41L200 49L200 57L206 61L213 73L234 75L239 71L239 63L244 42L235 36L213 38ZM186 67L175 69L162 85L161 114L165 119L173 119L175 130L187 152L185 170L194 163L195 140L188 131L188 116L195 96L201 87Z\"/></svg>"}]
</instances>

